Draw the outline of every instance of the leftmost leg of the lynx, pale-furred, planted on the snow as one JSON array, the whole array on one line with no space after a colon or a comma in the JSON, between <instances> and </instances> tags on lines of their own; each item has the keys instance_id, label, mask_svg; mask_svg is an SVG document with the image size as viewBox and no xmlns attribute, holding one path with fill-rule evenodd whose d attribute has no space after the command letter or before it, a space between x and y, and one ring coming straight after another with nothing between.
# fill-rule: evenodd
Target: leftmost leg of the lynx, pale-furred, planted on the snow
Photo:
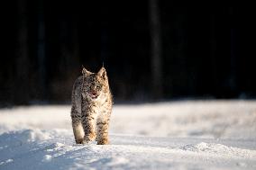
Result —
<instances>
[{"instance_id":1,"label":"leftmost leg of the lynx, pale-furred, planted on the snow","mask_svg":"<svg viewBox=\"0 0 256 170\"><path fill-rule=\"evenodd\" d=\"M80 120L80 116L78 115L78 112L76 112L74 108L72 108L72 111L71 111L71 118L72 118L72 127L73 127L76 143L83 144L84 130Z\"/></svg>"}]
</instances>

